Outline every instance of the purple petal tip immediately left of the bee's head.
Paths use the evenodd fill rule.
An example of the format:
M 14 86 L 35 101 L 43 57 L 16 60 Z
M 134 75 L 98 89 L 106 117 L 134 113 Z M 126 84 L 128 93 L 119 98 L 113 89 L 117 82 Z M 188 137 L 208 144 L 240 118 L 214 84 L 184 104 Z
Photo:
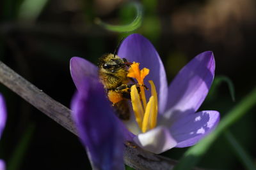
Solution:
M 88 60 L 80 57 L 72 57 L 70 59 L 70 73 L 76 85 L 77 90 L 83 87 L 83 80 L 86 77 L 98 78 L 97 67 Z

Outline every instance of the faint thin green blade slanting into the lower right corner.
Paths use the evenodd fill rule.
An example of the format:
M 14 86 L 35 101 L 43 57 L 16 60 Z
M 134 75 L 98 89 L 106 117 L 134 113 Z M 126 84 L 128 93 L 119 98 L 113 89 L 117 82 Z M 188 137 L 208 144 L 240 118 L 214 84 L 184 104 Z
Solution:
M 253 164 L 252 158 L 250 157 L 250 155 L 248 155 L 248 153 L 245 152 L 243 147 L 238 143 L 238 141 L 236 140 L 236 138 L 234 138 L 231 132 L 226 131 L 224 133 L 224 136 L 227 139 L 230 146 L 232 147 L 232 150 L 234 151 L 234 153 L 236 153 L 237 157 L 244 164 L 244 167 L 246 167 L 246 169 L 248 170 L 255 170 L 256 167 Z

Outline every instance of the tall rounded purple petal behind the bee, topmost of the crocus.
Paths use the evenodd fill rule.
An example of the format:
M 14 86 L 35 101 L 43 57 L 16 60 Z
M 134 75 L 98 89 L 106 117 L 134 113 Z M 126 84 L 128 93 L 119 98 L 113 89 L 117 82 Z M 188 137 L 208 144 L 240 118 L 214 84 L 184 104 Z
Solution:
M 150 73 L 145 78 L 145 84 L 150 87 L 148 80 L 153 80 L 159 99 L 159 113 L 164 111 L 168 94 L 166 73 L 156 49 L 147 38 L 140 34 L 131 34 L 124 39 L 118 50 L 118 56 L 129 62 L 140 62 L 140 68 L 147 67 Z

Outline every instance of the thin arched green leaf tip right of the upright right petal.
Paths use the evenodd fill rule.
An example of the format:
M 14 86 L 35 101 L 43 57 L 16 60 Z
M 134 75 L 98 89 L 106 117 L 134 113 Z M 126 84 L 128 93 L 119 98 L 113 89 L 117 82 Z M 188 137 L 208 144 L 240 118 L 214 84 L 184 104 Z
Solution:
M 223 82 L 227 83 L 227 85 L 228 85 L 228 89 L 229 89 L 232 101 L 236 101 L 234 84 L 233 84 L 232 80 L 230 80 L 230 78 L 228 78 L 227 76 L 216 76 L 214 78 L 214 81 L 212 83 L 212 87 L 208 94 L 208 97 L 211 98 L 212 96 L 214 96 L 214 94 L 217 93 L 218 87 L 220 87 L 221 83 L 223 83 Z

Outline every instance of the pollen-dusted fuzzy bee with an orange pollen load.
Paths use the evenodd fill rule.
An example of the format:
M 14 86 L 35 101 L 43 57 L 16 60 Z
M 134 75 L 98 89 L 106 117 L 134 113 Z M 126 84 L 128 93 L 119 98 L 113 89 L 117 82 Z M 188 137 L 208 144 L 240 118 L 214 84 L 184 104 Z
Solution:
M 100 57 L 98 65 L 100 81 L 106 89 L 109 101 L 113 103 L 116 116 L 122 120 L 130 118 L 128 99 L 131 99 L 133 84 L 128 84 L 132 78 L 127 77 L 127 69 L 131 64 L 125 58 L 107 53 Z

